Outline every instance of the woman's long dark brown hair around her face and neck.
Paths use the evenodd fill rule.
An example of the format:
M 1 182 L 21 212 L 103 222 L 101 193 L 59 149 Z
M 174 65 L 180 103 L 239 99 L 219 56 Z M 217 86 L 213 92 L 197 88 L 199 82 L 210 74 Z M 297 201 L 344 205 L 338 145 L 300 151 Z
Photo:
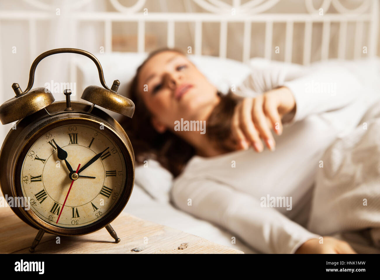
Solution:
M 174 176 L 178 176 L 196 151 L 188 142 L 171 131 L 166 130 L 164 133 L 158 133 L 154 129 L 151 123 L 151 114 L 141 98 L 141 93 L 138 92 L 138 78 L 141 68 L 152 56 L 163 51 L 185 55 L 182 51 L 172 48 L 158 49 L 149 54 L 137 68 L 127 93 L 127 97 L 135 103 L 135 114 L 131 119 L 123 117 L 120 124 L 131 140 L 136 163 L 141 164 L 145 160 L 154 159 Z M 230 138 L 231 117 L 237 99 L 234 98 L 231 91 L 226 95 L 218 92 L 218 95 L 220 95 L 221 101 L 206 121 L 206 136 L 220 149 L 229 151 L 230 148 L 225 142 Z

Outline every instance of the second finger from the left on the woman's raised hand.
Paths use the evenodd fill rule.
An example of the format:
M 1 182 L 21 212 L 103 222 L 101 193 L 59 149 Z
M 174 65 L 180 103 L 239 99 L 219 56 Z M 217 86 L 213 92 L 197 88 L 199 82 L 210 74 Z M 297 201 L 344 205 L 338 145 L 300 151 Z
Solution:
M 244 133 L 245 138 L 252 144 L 257 152 L 264 149 L 263 143 L 260 140 L 258 131 L 252 121 L 252 105 L 254 99 L 246 98 L 242 101 L 240 112 L 240 128 Z

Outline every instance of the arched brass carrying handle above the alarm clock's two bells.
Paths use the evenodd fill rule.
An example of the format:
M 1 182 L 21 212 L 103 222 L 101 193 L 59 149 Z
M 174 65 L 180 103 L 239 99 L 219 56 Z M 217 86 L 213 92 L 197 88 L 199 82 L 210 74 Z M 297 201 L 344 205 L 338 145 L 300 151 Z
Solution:
M 38 63 L 40 63 L 40 61 L 42 59 L 46 58 L 47 56 L 50 56 L 52 54 L 57 54 L 57 53 L 77 53 L 77 54 L 82 54 L 82 55 L 90 58 L 95 63 L 96 67 L 98 68 L 99 79 L 100 79 L 101 85 L 106 90 L 111 90 L 110 88 L 108 88 L 108 86 L 106 85 L 106 81 L 104 80 L 103 69 L 101 68 L 100 62 L 92 53 L 89 53 L 88 51 L 84 51 L 84 50 L 80 50 L 80 49 L 74 49 L 74 48 L 59 48 L 59 49 L 45 51 L 44 53 L 41 53 L 39 56 L 37 56 L 37 58 L 33 61 L 32 66 L 30 67 L 28 86 L 27 86 L 26 90 L 23 92 L 23 94 L 30 91 L 30 89 L 33 86 L 34 74 L 35 74 L 36 67 L 37 67 Z

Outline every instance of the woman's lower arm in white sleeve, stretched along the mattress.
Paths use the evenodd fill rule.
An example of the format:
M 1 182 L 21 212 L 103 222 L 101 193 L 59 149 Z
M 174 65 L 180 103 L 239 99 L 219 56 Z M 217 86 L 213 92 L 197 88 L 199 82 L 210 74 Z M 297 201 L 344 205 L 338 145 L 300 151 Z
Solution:
M 279 211 L 261 207 L 250 195 L 215 181 L 179 181 L 171 195 L 181 210 L 234 232 L 262 253 L 295 253 L 307 240 L 320 237 Z

